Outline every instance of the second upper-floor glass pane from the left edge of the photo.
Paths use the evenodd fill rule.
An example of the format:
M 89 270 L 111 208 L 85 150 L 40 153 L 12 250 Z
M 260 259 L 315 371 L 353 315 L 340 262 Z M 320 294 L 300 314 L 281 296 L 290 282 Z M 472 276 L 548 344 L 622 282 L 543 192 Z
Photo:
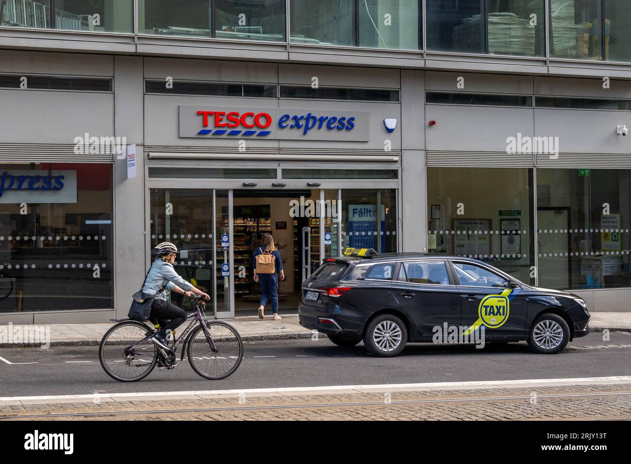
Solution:
M 134 3 L 129 0 L 54 0 L 57 29 L 134 32 Z

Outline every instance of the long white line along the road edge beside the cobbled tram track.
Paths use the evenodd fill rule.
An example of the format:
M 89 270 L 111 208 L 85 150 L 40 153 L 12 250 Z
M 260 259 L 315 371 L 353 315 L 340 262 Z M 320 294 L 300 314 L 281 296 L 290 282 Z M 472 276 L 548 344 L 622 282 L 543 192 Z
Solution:
M 323 392 L 334 390 L 385 390 L 392 391 L 398 389 L 423 389 L 431 390 L 449 390 L 454 387 L 466 387 L 477 389 L 486 388 L 534 388 L 538 385 L 550 386 L 550 384 L 558 384 L 559 386 L 571 386 L 574 384 L 620 384 L 628 383 L 631 387 L 631 376 L 611 376 L 611 377 L 582 377 L 569 379 L 524 379 L 524 380 L 487 380 L 478 382 L 429 382 L 429 383 L 399 383 L 399 384 L 375 384 L 375 385 L 331 385 L 331 386 L 311 386 L 311 387 L 278 387 L 278 388 L 251 388 L 242 390 L 192 390 L 192 391 L 149 391 L 142 393 L 100 393 L 101 398 L 134 398 L 138 396 L 195 396 L 195 395 L 239 395 L 244 393 L 288 393 L 288 392 Z M 93 393 L 89 395 L 47 395 L 47 396 L 4 396 L 0 398 L 1 402 L 15 402 L 26 400 L 54 400 L 59 402 L 62 400 L 88 400 L 91 402 L 94 398 Z

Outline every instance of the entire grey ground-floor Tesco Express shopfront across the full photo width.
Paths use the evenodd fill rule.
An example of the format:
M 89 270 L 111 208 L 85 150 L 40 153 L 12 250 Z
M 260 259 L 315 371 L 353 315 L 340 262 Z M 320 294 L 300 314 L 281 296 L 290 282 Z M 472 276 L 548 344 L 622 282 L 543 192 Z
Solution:
M 212 314 L 246 314 L 263 232 L 281 248 L 283 308 L 347 246 L 471 256 L 595 311 L 631 297 L 631 139 L 616 134 L 631 127 L 629 81 L 0 58 L 18 86 L 50 77 L 0 88 L 0 322 L 124 317 L 165 240 Z M 135 146 L 135 175 L 91 136 Z

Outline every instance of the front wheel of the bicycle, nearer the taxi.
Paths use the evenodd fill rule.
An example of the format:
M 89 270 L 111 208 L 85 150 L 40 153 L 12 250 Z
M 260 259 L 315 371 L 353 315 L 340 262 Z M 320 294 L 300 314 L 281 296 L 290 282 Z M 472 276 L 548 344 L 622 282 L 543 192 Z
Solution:
M 207 321 L 206 325 L 217 351 L 211 349 L 204 335 L 204 328 L 200 325 L 189 339 L 189 362 L 193 370 L 205 379 L 227 378 L 239 368 L 243 359 L 241 336 L 233 326 L 225 322 Z

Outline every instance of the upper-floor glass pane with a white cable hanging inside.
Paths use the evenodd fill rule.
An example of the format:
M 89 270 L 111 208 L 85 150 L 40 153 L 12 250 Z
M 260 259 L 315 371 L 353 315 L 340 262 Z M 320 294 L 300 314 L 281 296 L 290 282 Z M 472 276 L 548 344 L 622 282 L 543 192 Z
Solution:
M 419 0 L 360 0 L 359 45 L 382 49 L 422 49 Z

